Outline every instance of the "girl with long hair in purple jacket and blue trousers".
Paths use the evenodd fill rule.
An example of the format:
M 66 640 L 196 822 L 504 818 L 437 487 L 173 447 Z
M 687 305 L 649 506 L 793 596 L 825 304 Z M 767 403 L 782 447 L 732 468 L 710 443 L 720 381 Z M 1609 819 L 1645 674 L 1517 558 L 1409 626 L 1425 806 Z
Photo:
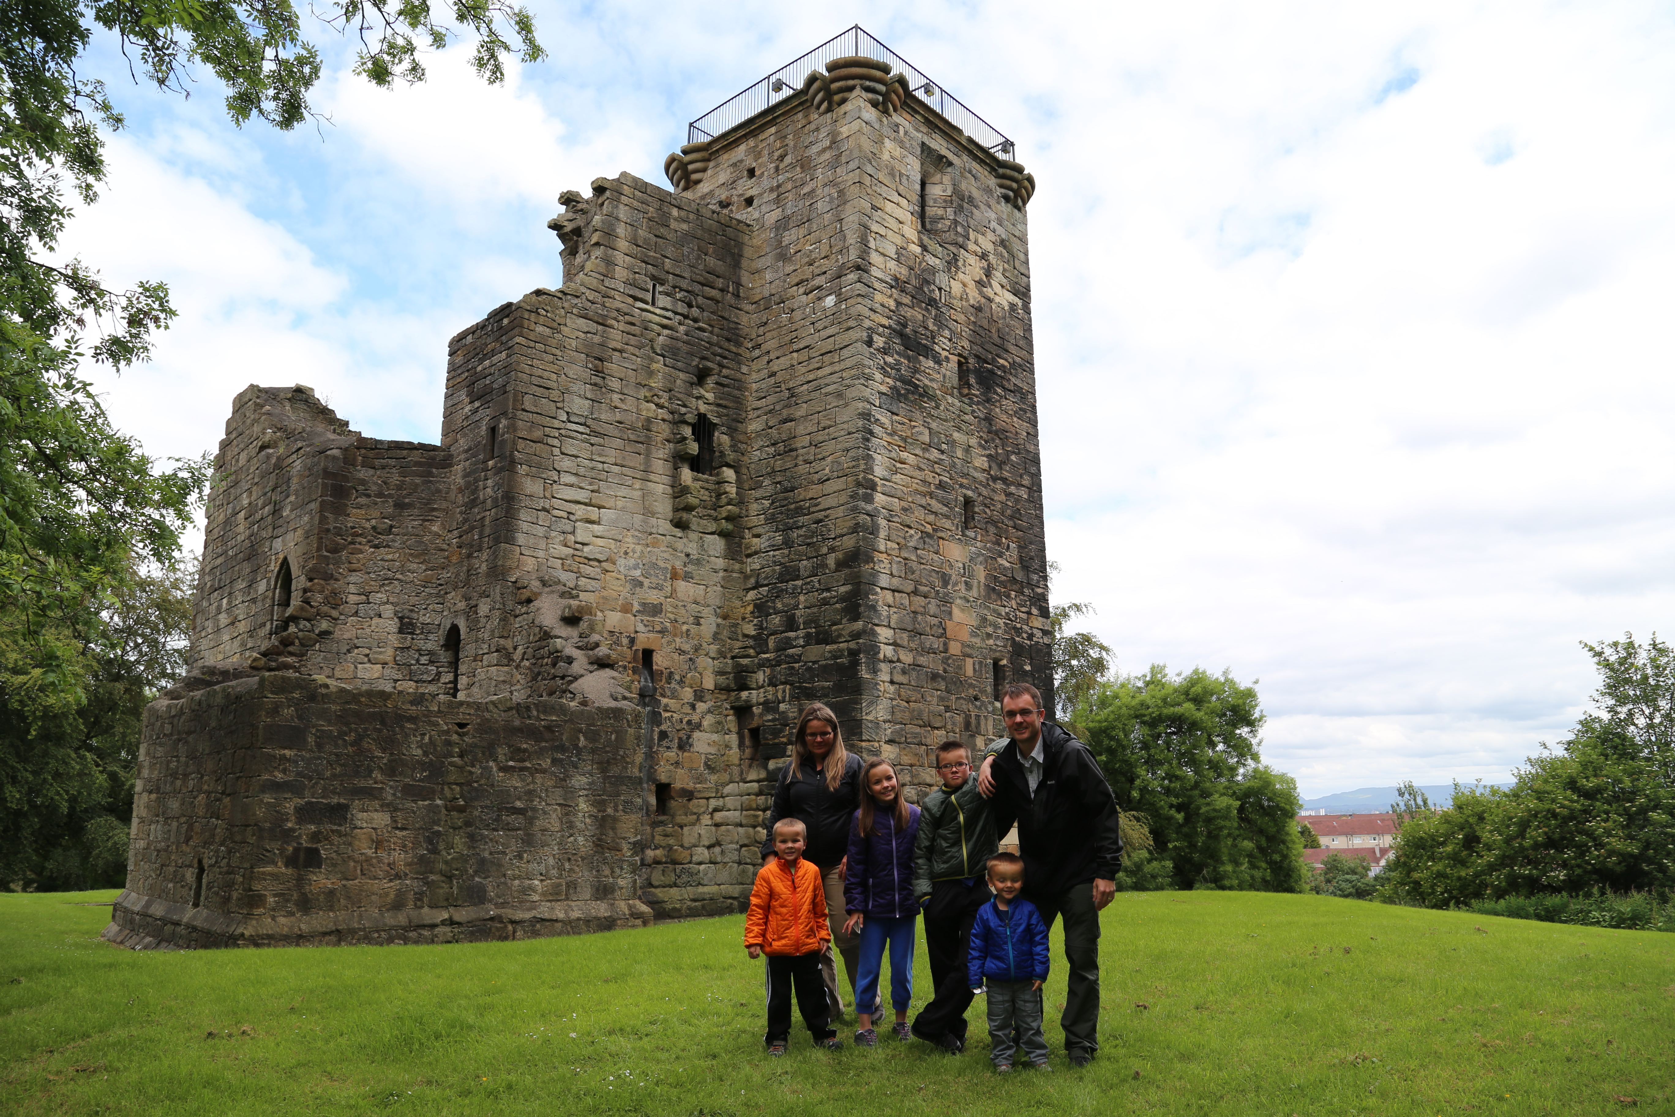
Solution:
M 861 769 L 861 809 L 849 826 L 849 872 L 844 879 L 844 934 L 861 929 L 861 965 L 856 973 L 854 1003 L 878 1003 L 878 976 L 889 946 L 889 1000 L 896 1006 L 896 1038 L 908 1032 L 908 1001 L 913 1000 L 913 923 L 920 906 L 913 901 L 913 839 L 920 832 L 920 809 L 901 797 L 896 767 L 889 760 L 868 760 Z M 858 1047 L 876 1047 L 873 1013 L 856 1011 Z

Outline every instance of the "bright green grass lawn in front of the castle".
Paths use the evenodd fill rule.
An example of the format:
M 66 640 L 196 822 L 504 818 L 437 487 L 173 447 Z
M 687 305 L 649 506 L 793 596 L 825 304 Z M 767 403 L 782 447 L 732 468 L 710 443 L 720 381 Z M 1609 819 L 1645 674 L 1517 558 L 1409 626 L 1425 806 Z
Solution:
M 1124 893 L 1102 1050 L 769 1060 L 742 918 L 476 946 L 132 953 L 111 893 L 0 894 L 5 1114 L 1675 1112 L 1675 934 Z M 1054 950 L 1060 946 L 1057 936 Z M 1060 956 L 1055 955 L 1055 968 Z M 15 978 L 22 978 L 17 981 Z M 925 990 L 923 951 L 918 988 Z M 1141 1006 L 1144 1005 L 1144 1008 Z M 211 1038 L 213 1033 L 213 1038 Z M 977 1038 L 985 1037 L 985 1038 Z

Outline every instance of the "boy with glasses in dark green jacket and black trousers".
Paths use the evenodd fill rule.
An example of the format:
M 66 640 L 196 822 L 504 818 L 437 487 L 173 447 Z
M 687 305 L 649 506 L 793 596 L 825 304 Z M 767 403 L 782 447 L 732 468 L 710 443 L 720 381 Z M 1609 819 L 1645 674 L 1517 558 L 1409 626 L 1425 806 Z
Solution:
M 913 896 L 925 909 L 933 988 L 931 1001 L 913 1020 L 913 1035 L 958 1055 L 965 1048 L 965 1010 L 972 1006 L 972 921 L 988 903 L 983 878 L 1000 844 L 993 811 L 972 779 L 972 750 L 958 740 L 940 744 L 936 775 L 941 787 L 920 804 L 913 846 Z

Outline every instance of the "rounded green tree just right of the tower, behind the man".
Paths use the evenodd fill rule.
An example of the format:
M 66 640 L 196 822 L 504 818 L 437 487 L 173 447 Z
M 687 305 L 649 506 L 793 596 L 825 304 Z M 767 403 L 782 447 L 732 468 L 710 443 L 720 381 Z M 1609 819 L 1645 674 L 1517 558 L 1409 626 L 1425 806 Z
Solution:
M 1152 665 L 1099 685 L 1087 744 L 1117 806 L 1146 817 L 1154 851 L 1124 867 L 1126 886 L 1295 893 L 1305 888 L 1296 782 L 1261 764 L 1255 687 L 1229 672 L 1169 675 Z

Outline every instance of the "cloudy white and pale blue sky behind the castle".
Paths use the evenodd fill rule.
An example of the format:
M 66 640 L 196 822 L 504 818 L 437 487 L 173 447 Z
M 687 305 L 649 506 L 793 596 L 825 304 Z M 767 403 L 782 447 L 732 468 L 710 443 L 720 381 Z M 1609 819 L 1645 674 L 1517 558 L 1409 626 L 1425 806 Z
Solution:
M 1675 13 L 1660 3 L 534 5 L 328 122 L 134 87 L 70 241 L 179 322 L 104 378 L 159 456 L 246 383 L 434 440 L 447 337 L 559 281 L 544 221 L 859 20 L 1018 141 L 1052 558 L 1124 672 L 1261 680 L 1305 795 L 1502 780 L 1675 603 Z

